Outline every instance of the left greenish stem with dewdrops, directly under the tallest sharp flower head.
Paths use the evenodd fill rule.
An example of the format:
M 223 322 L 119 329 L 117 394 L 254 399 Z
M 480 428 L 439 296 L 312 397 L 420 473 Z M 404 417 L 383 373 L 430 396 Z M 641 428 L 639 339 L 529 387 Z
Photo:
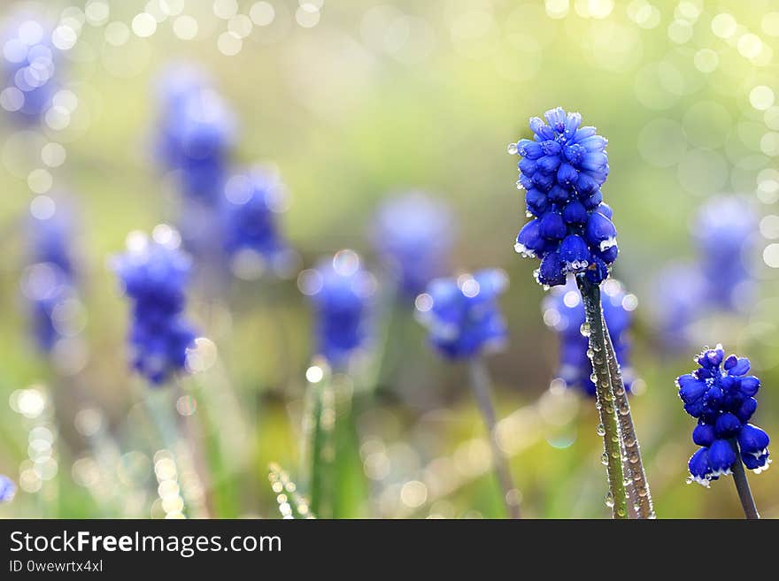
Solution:
M 589 325 L 592 371 L 595 373 L 596 407 L 603 425 L 603 448 L 606 458 L 609 493 L 611 494 L 614 518 L 627 518 L 624 472 L 622 470 L 622 441 L 620 426 L 614 409 L 614 394 L 611 374 L 606 361 L 605 329 L 603 309 L 600 303 L 600 287 L 584 276 L 576 277 L 576 284 L 582 293 L 586 325 Z

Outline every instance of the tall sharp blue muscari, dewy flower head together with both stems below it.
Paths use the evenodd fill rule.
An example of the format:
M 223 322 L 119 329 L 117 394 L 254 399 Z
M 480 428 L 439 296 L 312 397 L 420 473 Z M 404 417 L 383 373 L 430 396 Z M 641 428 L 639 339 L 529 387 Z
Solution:
M 627 518 L 629 496 L 636 516 L 648 518 L 654 515 L 652 497 L 600 299 L 600 283 L 609 277 L 619 253 L 613 212 L 601 192 L 609 173 L 608 141 L 595 127 L 582 126 L 579 113 L 558 107 L 546 111 L 544 119 L 530 118 L 532 138 L 508 146 L 510 154 L 521 157 L 517 187 L 527 190 L 525 205 L 531 218 L 514 248 L 540 260 L 535 276 L 544 288 L 565 285 L 567 275 L 575 275 L 586 317 L 582 333 L 589 338 L 596 379 L 598 432 L 604 436 L 606 504 L 615 518 Z

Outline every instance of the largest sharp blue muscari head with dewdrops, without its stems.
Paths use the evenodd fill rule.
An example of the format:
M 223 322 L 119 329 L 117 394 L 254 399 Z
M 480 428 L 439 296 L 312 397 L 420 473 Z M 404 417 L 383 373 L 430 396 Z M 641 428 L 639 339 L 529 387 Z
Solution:
M 514 246 L 522 256 L 541 261 L 536 280 L 544 287 L 566 284 L 568 273 L 586 272 L 599 283 L 617 257 L 612 210 L 600 187 L 609 172 L 607 141 L 579 113 L 560 107 L 530 119 L 532 140 L 511 143 L 522 159 L 517 187 L 527 190 L 528 217 Z

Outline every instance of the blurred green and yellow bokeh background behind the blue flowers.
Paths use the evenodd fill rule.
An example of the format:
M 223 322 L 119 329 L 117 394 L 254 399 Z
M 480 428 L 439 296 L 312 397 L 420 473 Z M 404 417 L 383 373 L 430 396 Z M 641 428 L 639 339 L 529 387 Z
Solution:
M 280 227 L 298 255 L 281 279 L 230 281 L 229 301 L 209 301 L 197 285 L 189 293 L 208 339 L 182 394 L 162 397 L 210 426 L 201 436 L 215 516 L 286 509 L 268 465 L 299 474 L 316 348 L 297 271 L 353 248 L 386 280 L 370 242 L 374 212 L 408 190 L 457 217 L 452 273 L 509 275 L 510 339 L 488 364 L 525 516 L 608 515 L 594 402 L 559 381 L 550 389 L 558 338 L 544 325 L 536 263 L 513 251 L 526 218 L 506 144 L 557 105 L 609 139 L 613 276 L 637 297 L 633 413 L 658 516 L 740 516 L 729 478 L 709 490 L 685 484 L 694 420 L 674 379 L 722 342 L 752 359 L 763 385 L 753 422 L 779 433 L 776 4 L 51 0 L 0 11 L 5 25 L 32 18 L 54 31 L 61 91 L 27 124 L 12 115 L 12 95 L 0 96 L 0 473 L 19 484 L 0 516 L 177 512 L 139 403 L 148 387 L 127 369 L 127 302 L 108 261 L 128 232 L 176 219 L 177 194 L 154 159 L 154 87 L 182 63 L 210 75 L 235 113 L 231 163 L 276 166 L 288 192 Z M 46 355 L 19 280 L 31 208 L 65 192 L 79 298 L 68 340 Z M 717 205 L 721 195 L 740 197 Z M 728 218 L 744 216 L 753 219 L 736 230 L 736 249 L 720 244 Z M 721 220 L 724 233 L 699 240 Z M 720 287 L 734 263 L 727 300 L 704 305 L 698 269 Z M 411 305 L 396 308 L 388 333 L 376 395 L 357 417 L 360 460 L 343 467 L 340 515 L 502 517 L 464 369 L 430 351 Z M 749 474 L 763 516 L 779 516 L 775 470 Z

